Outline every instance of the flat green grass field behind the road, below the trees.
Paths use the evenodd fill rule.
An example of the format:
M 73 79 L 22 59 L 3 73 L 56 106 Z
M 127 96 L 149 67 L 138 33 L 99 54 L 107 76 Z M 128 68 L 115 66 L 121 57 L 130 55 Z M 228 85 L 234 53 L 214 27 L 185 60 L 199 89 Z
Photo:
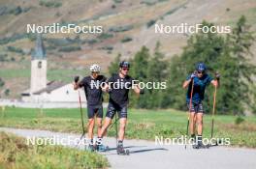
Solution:
M 104 110 L 106 112 L 106 109 Z M 84 126 L 86 124 L 86 110 Z M 186 133 L 186 112 L 177 110 L 128 110 L 126 138 L 154 140 L 155 136 L 176 138 Z M 236 116 L 215 116 L 214 137 L 230 138 L 232 146 L 256 148 L 256 117 L 242 117 L 240 124 Z M 204 137 L 210 137 L 211 115 L 204 117 Z M 6 108 L 1 113 L 0 127 L 46 129 L 60 132 L 81 133 L 80 109 L 32 109 Z M 95 132 L 96 133 L 96 132 Z M 114 127 L 108 136 L 115 136 Z

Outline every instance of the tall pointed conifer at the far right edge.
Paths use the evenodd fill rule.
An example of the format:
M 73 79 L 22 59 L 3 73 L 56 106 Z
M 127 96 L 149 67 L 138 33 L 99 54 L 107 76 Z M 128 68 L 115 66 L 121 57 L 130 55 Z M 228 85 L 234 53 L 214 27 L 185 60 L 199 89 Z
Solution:
M 250 26 L 246 24 L 246 18 L 244 15 L 240 16 L 240 19 L 233 29 L 231 36 L 228 37 L 227 43 L 231 49 L 231 57 L 236 60 L 233 71 L 236 71 L 236 88 L 238 94 L 237 103 L 240 105 L 240 114 L 244 109 L 256 110 L 256 86 L 253 83 L 253 76 L 256 74 L 256 67 L 251 63 L 252 53 L 250 47 L 252 46 L 255 38 L 250 32 Z M 234 79 L 235 80 L 235 79 Z

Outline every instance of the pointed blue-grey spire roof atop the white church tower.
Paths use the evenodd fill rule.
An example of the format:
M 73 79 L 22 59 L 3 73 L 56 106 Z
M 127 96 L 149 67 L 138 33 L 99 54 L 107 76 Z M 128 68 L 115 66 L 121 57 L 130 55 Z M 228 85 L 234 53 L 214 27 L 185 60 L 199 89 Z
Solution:
M 32 60 L 34 59 L 47 59 L 46 49 L 41 34 L 37 35 L 35 50 L 32 53 Z

